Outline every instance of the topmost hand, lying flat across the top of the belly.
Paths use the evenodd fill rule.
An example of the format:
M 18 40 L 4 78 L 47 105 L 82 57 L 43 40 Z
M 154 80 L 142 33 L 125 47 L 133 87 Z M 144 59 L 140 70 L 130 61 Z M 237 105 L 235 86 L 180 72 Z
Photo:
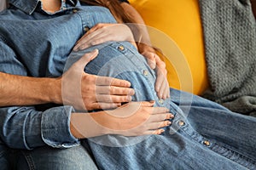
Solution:
M 110 41 L 128 41 L 137 47 L 130 28 L 125 24 L 97 24 L 79 39 L 73 50 L 78 51 Z

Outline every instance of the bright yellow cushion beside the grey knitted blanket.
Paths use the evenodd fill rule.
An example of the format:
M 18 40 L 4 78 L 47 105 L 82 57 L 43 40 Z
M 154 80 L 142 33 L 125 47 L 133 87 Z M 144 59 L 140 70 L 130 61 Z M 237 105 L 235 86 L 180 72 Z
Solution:
M 153 45 L 166 55 L 168 82 L 193 94 L 208 86 L 197 0 L 130 0 L 143 16 Z

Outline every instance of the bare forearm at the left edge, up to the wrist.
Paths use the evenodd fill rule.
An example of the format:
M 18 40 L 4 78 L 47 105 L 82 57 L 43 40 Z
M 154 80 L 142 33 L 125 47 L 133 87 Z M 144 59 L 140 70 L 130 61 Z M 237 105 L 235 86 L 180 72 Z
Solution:
M 0 106 L 60 104 L 61 80 L 10 75 L 0 72 Z

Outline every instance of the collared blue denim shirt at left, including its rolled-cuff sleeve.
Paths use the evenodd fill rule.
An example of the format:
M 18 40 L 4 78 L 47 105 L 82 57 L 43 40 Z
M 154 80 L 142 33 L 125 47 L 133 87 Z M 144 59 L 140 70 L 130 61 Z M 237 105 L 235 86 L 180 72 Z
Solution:
M 115 22 L 107 8 L 66 2 L 65 8 L 50 14 L 38 0 L 9 1 L 10 7 L 0 13 L 0 71 L 59 77 L 73 44 L 85 31 L 97 23 Z M 68 105 L 44 110 L 36 106 L 0 108 L 0 143 L 29 150 L 44 144 L 56 148 L 77 145 L 79 140 L 69 127 L 73 111 Z

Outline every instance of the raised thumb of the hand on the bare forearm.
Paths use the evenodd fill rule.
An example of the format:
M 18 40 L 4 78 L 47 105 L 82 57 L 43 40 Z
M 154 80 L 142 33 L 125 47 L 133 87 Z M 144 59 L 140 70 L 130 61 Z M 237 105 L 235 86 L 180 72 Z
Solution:
M 95 59 L 96 56 L 99 54 L 98 49 L 92 50 L 90 53 L 84 54 L 81 59 L 79 59 L 74 65 L 76 67 L 79 67 L 81 69 L 84 69 L 84 67 L 92 60 Z

